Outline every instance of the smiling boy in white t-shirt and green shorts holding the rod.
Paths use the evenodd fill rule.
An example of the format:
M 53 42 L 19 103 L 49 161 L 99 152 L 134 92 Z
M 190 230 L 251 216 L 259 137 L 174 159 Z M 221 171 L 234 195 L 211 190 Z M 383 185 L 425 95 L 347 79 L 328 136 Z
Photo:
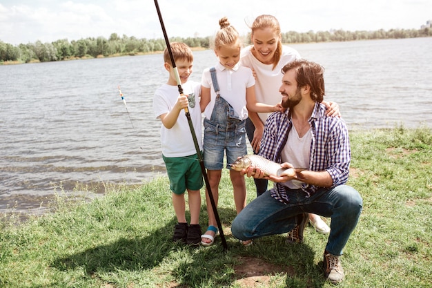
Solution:
M 202 150 L 202 117 L 199 107 L 201 84 L 188 81 L 192 73 L 192 50 L 183 43 L 170 44 L 173 58 L 177 66 L 181 87 L 184 95 L 179 94 L 175 70 L 171 63 L 168 49 L 164 51 L 164 67 L 169 73 L 168 81 L 155 91 L 153 111 L 156 118 L 161 119 L 162 157 L 173 192 L 173 207 L 177 216 L 173 241 L 198 245 L 201 242 L 201 227 L 199 227 L 199 211 L 201 209 L 201 194 L 203 186 L 202 171 L 197 160 L 197 151 L 193 142 L 185 108 L 188 108 L 191 120 Z M 198 105 L 195 105 L 195 103 Z M 184 191 L 188 191 L 190 225 L 186 222 Z

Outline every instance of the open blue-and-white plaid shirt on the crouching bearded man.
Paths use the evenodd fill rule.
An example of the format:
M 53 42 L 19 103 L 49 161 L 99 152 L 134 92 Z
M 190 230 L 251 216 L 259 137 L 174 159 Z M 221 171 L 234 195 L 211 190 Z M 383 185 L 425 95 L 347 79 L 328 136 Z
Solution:
M 309 124 L 312 129 L 311 158 L 308 169 L 311 171 L 327 171 L 333 179 L 331 188 L 345 184 L 348 180 L 351 148 L 349 145 L 348 129 L 339 117 L 327 117 L 324 104 L 316 103 Z M 280 163 L 281 152 L 288 139 L 293 122 L 288 112 L 271 114 L 264 128 L 259 155 L 268 160 Z M 275 183 L 271 190 L 273 198 L 288 202 L 286 195 L 288 187 Z M 304 183 L 302 190 L 311 195 L 319 186 Z

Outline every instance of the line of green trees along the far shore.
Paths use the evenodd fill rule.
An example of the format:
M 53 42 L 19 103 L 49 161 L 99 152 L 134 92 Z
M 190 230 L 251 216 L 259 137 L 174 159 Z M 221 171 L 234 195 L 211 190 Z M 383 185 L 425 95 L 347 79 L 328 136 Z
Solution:
M 355 41 L 369 39 L 401 39 L 415 37 L 431 37 L 432 28 L 420 30 L 377 30 L 377 31 L 345 31 L 331 30 L 318 32 L 284 32 L 282 43 L 313 43 L 328 41 Z M 249 41 L 250 37 L 246 37 Z M 170 41 L 180 41 L 190 47 L 209 48 L 211 37 L 173 37 Z M 248 43 L 246 43 L 248 44 Z M 88 37 L 86 39 L 72 40 L 60 39 L 51 43 L 12 44 L 0 40 L 0 64 L 4 61 L 18 61 L 29 63 L 31 61 L 62 61 L 65 59 L 76 59 L 83 57 L 110 57 L 115 55 L 139 55 L 151 52 L 163 51 L 166 47 L 164 39 L 137 39 L 117 33 L 112 33 L 108 39 L 105 37 Z

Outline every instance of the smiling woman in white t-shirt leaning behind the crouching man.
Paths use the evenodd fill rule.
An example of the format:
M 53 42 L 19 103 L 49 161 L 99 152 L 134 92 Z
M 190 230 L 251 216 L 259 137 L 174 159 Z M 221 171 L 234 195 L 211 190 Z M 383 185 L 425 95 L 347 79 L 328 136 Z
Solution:
M 279 21 L 272 15 L 260 15 L 251 26 L 251 46 L 242 49 L 240 63 L 253 70 L 257 102 L 275 105 L 281 101 L 279 86 L 282 81 L 281 69 L 288 62 L 300 59 L 297 50 L 282 45 Z M 340 116 L 336 103 L 323 102 L 327 115 Z M 254 153 L 259 152 L 264 123 L 269 113 L 250 112 L 246 120 L 246 133 Z M 267 190 L 268 180 L 254 179 L 257 196 Z M 319 215 L 309 214 L 309 221 L 318 233 L 330 233 L 330 228 Z

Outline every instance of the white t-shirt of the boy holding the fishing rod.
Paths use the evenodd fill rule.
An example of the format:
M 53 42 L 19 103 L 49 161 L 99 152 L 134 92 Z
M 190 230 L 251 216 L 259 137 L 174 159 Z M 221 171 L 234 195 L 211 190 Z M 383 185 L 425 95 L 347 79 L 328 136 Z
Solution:
M 199 107 L 201 84 L 197 81 L 187 81 L 181 84 L 181 88 L 184 95 L 188 95 L 190 119 L 199 148 L 202 150 L 202 115 Z M 177 86 L 164 84 L 157 88 L 153 97 L 155 117 L 160 119 L 161 115 L 172 111 L 178 97 Z M 177 122 L 172 128 L 167 129 L 164 124 L 161 124 L 161 146 L 165 157 L 184 157 L 197 153 L 184 109 L 180 111 Z

